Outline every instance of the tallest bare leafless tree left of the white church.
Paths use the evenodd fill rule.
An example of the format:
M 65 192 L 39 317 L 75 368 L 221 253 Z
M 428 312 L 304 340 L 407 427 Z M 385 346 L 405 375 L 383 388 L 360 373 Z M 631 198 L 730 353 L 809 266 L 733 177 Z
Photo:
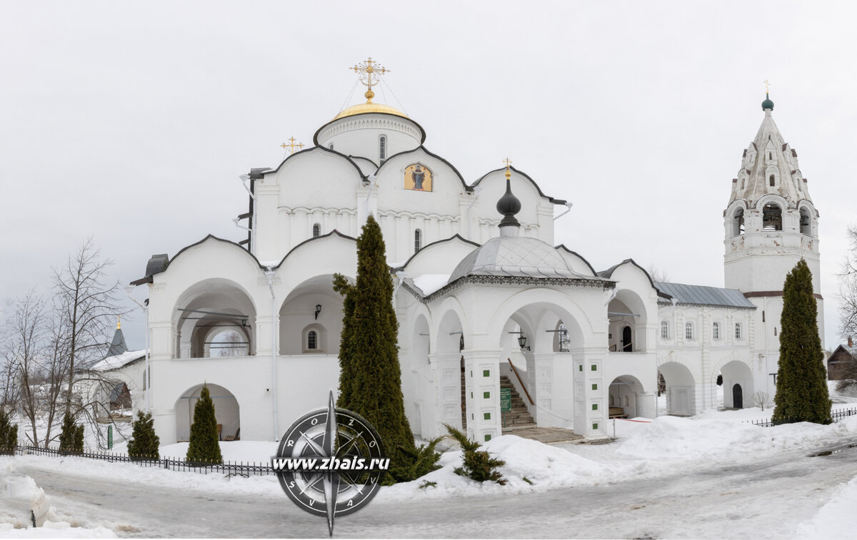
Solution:
M 113 264 L 102 259 L 92 237 L 81 244 L 61 269 L 54 269 L 54 302 L 62 328 L 68 336 L 63 352 L 69 363 L 65 414 L 71 413 L 75 370 L 101 359 L 107 345 L 105 335 L 117 315 L 127 312 L 117 300 L 118 282 L 108 282 L 106 271 Z

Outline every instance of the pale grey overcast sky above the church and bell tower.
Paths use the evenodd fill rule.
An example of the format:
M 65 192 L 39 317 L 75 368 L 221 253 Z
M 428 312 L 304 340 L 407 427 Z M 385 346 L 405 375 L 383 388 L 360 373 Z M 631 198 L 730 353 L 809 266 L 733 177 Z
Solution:
M 818 2 L 0 0 L 0 300 L 44 290 L 89 235 L 123 284 L 153 253 L 245 238 L 238 175 L 276 166 L 291 135 L 311 144 L 372 56 L 395 92 L 375 101 L 466 181 L 509 157 L 572 201 L 556 243 L 596 270 L 634 258 L 719 287 L 770 80 L 821 214 L 831 347 L 857 223 L 854 22 L 853 3 Z M 143 326 L 123 325 L 130 347 Z

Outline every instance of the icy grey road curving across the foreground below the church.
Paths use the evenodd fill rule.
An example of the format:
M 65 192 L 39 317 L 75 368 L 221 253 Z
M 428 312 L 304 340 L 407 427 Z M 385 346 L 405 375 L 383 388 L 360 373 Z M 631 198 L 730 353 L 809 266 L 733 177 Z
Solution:
M 127 537 L 324 537 L 327 524 L 285 495 L 201 491 L 63 478 L 24 464 L 61 514 Z M 752 465 L 529 495 L 374 501 L 336 522 L 337 537 L 794 537 L 797 524 L 857 475 L 857 449 L 780 454 Z

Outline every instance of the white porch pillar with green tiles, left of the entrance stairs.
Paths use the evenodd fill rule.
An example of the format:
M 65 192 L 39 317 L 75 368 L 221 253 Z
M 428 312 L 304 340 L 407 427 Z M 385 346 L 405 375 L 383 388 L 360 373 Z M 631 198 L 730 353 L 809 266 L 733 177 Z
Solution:
M 467 436 L 490 441 L 502 433 L 500 417 L 500 349 L 464 350 Z

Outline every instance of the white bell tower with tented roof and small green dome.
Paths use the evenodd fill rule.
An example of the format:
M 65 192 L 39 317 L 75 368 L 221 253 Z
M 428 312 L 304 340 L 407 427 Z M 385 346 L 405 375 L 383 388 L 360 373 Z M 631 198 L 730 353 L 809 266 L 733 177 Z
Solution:
M 821 297 L 818 252 L 818 211 L 798 166 L 797 152 L 782 139 L 765 95 L 764 119 L 744 151 L 738 177 L 723 212 L 726 288 L 737 288 L 758 309 L 751 340 L 755 388 L 774 397 L 779 359 L 782 285 L 801 258 L 812 271 L 818 301 L 818 331 L 824 346 L 824 300 Z M 730 329 L 736 340 L 744 329 Z

